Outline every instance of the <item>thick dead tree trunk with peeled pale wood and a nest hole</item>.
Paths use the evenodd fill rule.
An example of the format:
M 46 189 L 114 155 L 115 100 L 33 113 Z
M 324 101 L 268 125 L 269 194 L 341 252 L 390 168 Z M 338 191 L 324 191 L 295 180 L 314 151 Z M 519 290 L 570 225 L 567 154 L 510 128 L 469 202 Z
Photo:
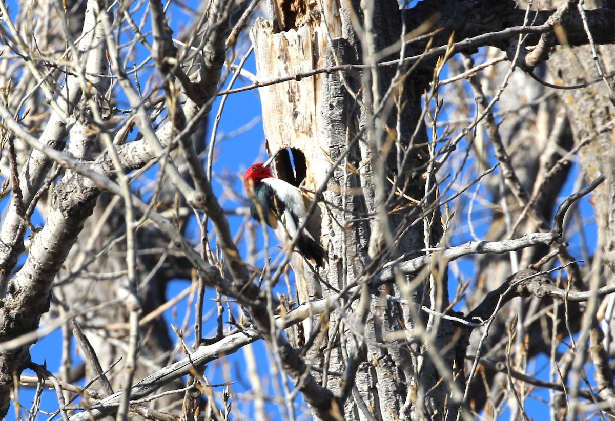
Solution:
M 341 9 L 330 2 L 295 6 L 273 2 L 273 18 L 252 30 L 259 80 L 298 75 L 261 88 L 263 124 L 269 152 L 287 148 L 277 158 L 278 176 L 303 183 L 320 201 L 320 223 L 312 228 L 328 249 L 328 265 L 315 272 L 295 254 L 298 301 L 351 293 L 341 293 L 342 308 L 287 333 L 296 345 L 314 340 L 306 359 L 322 368 L 315 376 L 344 403 L 344 419 L 442 417 L 454 407 L 446 398 L 446 383 L 454 381 L 438 383 L 436 366 L 451 376 L 455 329 L 448 321 L 434 324 L 416 304 L 448 305 L 446 264 L 375 282 L 383 262 L 435 245 L 442 235 L 437 210 L 429 210 L 436 192 L 419 124 L 431 71 L 415 70 L 413 77 L 407 67 L 335 71 L 373 63 L 400 39 L 403 11 L 395 1 L 370 10 L 358 2 Z M 355 31 L 354 19 L 365 33 Z M 319 68 L 331 71 L 302 76 Z M 448 350 L 437 354 L 438 348 Z

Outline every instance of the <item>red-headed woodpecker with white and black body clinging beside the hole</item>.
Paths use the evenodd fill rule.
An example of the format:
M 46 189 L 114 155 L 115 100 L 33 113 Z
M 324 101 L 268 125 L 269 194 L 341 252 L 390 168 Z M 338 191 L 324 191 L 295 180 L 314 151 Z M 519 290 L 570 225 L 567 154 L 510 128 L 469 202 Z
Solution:
M 299 235 L 296 248 L 316 266 L 322 267 L 327 259 L 325 250 L 306 229 L 298 232 L 306 219 L 309 199 L 297 187 L 273 175 L 270 165 L 275 157 L 274 154 L 266 162 L 250 165 L 245 171 L 244 186 L 250 196 L 250 214 L 256 221 L 261 221 L 262 215 L 282 244 Z

